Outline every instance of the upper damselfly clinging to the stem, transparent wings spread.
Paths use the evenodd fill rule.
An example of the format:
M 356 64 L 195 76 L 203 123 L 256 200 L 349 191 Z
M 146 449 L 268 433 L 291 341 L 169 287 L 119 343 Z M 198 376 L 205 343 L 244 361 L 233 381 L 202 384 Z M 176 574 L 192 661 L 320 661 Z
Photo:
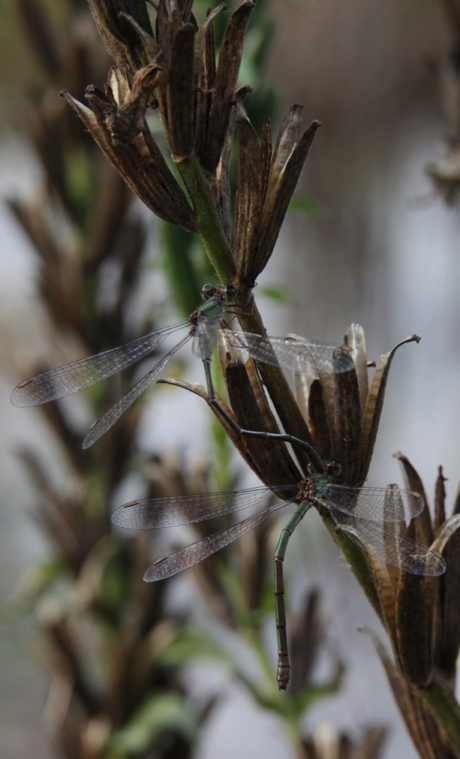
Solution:
M 334 373 L 346 371 L 350 367 L 350 356 L 335 344 L 307 340 L 299 342 L 298 338 L 269 338 L 250 332 L 233 332 L 225 326 L 221 328 L 223 313 L 231 312 L 231 309 L 235 308 L 228 305 L 236 296 L 235 289 L 229 285 L 205 285 L 202 295 L 205 303 L 186 321 L 144 335 L 119 348 L 111 348 L 24 380 L 13 390 L 11 402 L 15 406 L 35 406 L 90 387 L 146 358 L 169 335 L 186 327 L 187 334 L 114 406 L 92 424 L 83 440 L 83 448 L 89 448 L 115 424 L 141 393 L 156 380 L 170 358 L 192 338 L 194 353 L 204 364 L 207 391 L 212 400 L 215 393 L 211 360 L 219 334 L 225 337 L 229 345 L 245 350 L 256 360 L 269 364 L 279 363 L 284 368 L 306 371 L 308 366 L 313 366 L 316 372 Z M 225 413 L 223 415 L 227 418 Z

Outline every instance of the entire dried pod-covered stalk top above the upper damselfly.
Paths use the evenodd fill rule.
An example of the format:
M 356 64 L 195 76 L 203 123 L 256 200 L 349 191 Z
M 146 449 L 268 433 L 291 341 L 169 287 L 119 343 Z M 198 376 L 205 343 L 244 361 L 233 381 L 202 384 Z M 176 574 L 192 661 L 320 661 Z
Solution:
M 154 29 L 143 3 L 92 0 L 91 11 L 116 62 L 102 92 L 86 90 L 89 108 L 63 95 L 101 150 L 139 198 L 160 218 L 198 232 L 221 282 L 247 298 L 265 268 L 279 234 L 319 122 L 301 128 L 299 105 L 284 119 L 272 148 L 266 122 L 262 141 L 237 89 L 246 27 L 253 2 L 231 15 L 217 60 L 210 11 L 200 26 L 192 2 L 159 0 Z M 168 166 L 146 113 L 161 119 Z M 239 175 L 232 214 L 230 166 L 238 124 Z M 255 328 L 254 326 L 252 327 Z

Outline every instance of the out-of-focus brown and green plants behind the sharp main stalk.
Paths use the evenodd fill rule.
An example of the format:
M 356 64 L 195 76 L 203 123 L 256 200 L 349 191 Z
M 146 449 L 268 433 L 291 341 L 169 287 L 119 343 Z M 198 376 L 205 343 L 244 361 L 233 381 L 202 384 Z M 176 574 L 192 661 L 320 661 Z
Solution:
M 86 84 L 101 81 L 108 67 L 100 41 L 91 31 L 86 4 L 63 2 L 58 17 L 49 17 L 45 6 L 33 0 L 20 0 L 17 8 L 46 79 L 41 92 L 29 103 L 28 118 L 28 136 L 41 162 L 44 182 L 33 198 L 15 199 L 10 205 L 39 261 L 37 290 L 53 331 L 53 364 L 59 364 L 151 330 L 163 300 L 153 293 L 152 316 L 136 310 L 137 293 L 148 265 L 145 222 L 125 182 L 107 164 L 65 101 L 58 99 L 64 86 L 82 98 Z M 254 81 L 272 31 L 262 8 L 257 17 L 252 36 L 248 34 L 252 52 L 245 62 L 245 74 Z M 126 21 L 122 23 L 125 30 L 129 28 Z M 211 23 L 207 29 L 209 37 Z M 220 45 L 223 33 L 224 23 L 218 18 L 216 38 Z M 137 31 L 131 29 L 130 35 L 138 41 Z M 211 42 L 212 35 L 208 47 Z M 262 95 L 259 91 L 251 111 L 256 123 L 261 123 L 260 114 L 265 115 L 273 100 L 271 91 L 265 90 Z M 229 106 L 230 100 L 227 110 Z M 220 108 L 221 103 L 215 108 L 217 115 Z M 246 118 L 241 115 L 244 123 Z M 114 150 L 126 159 L 129 147 L 122 141 Z M 159 153 L 156 149 L 153 152 L 161 163 Z M 183 197 L 174 206 L 174 212 L 182 213 L 176 221 L 186 229 L 195 229 L 194 214 L 185 195 L 181 196 L 183 191 L 166 164 L 163 168 L 171 192 Z M 149 181 L 154 177 L 151 174 Z M 295 183 L 292 191 L 294 187 Z M 182 212 L 177 210 L 180 206 Z M 275 223 L 281 223 L 279 215 Z M 243 231 L 246 234 L 246 229 Z M 192 236 L 182 228 L 164 224 L 161 239 L 162 266 L 171 292 L 177 308 L 188 315 L 197 305 L 203 281 L 209 278 L 209 265 Z M 273 247 L 274 239 L 276 236 L 267 244 Z M 32 367 L 22 362 L 18 373 L 47 368 L 45 364 Z M 86 391 L 91 413 L 97 415 L 107 407 L 130 384 L 133 373 L 128 369 L 121 380 L 114 378 Z M 212 657 L 224 663 L 233 679 L 259 704 L 285 720 L 299 755 L 323 756 L 327 750 L 324 736 L 312 736 L 304 743 L 301 717 L 308 704 L 340 687 L 343 665 L 333 659 L 330 679 L 316 681 L 322 622 L 319 598 L 309 593 L 305 616 L 292 629 L 296 674 L 289 700 L 278 694 L 262 637 L 264 620 L 273 613 L 268 572 L 270 525 L 251 536 L 244 550 L 236 547 L 195 570 L 195 584 L 208 613 L 242 636 L 259 662 L 260 671 L 254 678 L 238 664 L 236 654 L 225 650 L 214 636 L 197 631 L 186 615 L 171 613 L 168 583 L 149 585 L 142 581 L 151 551 L 162 552 L 157 539 L 152 546 L 143 535 L 125 540 L 110 529 L 116 493 L 133 471 L 140 474 L 151 497 L 209 490 L 213 482 L 211 462 L 197 465 L 186 474 L 187 465 L 171 456 L 142 461 L 136 436 L 143 410 L 142 402 L 130 409 L 88 453 L 81 448 L 80 426 L 68 406 L 56 403 L 41 409 L 70 466 L 64 490 L 56 489 L 39 451 L 27 447 L 19 452 L 36 487 L 34 518 L 50 543 L 50 554 L 33 567 L 20 595 L 4 611 L 14 617 L 30 610 L 37 618 L 40 658 L 51 678 L 46 721 L 57 755 L 72 759 L 190 756 L 200 726 L 209 719 L 220 694 L 211 694 L 197 707 L 190 701 L 183 674 L 197 658 Z M 236 483 L 229 465 L 226 474 L 225 469 L 222 471 L 222 462 L 230 458 L 228 443 L 216 428 L 213 434 L 220 450 L 219 484 L 233 487 Z M 362 739 L 363 745 L 373 746 L 366 753 L 369 757 L 377 756 L 383 738 L 375 732 L 372 736 L 370 740 L 370 733 L 366 733 Z M 360 741 L 337 734 L 330 735 L 326 745 L 332 742 L 339 751 L 342 745 L 359 745 Z

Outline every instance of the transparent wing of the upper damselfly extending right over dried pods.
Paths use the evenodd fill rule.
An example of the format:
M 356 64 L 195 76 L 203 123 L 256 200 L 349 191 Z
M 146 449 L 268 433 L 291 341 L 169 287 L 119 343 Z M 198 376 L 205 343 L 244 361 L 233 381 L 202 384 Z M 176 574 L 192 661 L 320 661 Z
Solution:
M 308 368 L 317 374 L 349 371 L 353 359 L 349 350 L 334 343 L 321 343 L 292 337 L 262 337 L 251 332 L 222 330 L 222 335 L 233 348 L 249 353 L 256 361 L 279 363 L 285 369 L 305 372 Z

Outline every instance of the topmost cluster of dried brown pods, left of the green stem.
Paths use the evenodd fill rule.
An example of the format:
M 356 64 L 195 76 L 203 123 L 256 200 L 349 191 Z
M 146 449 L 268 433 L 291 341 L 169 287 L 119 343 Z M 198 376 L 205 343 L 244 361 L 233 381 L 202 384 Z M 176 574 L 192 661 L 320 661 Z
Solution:
M 114 2 L 110 13 L 107 3 L 90 3 L 117 66 L 104 93 L 94 87 L 87 90 L 93 116 L 68 93 L 64 95 L 148 207 L 161 218 L 196 231 L 195 214 L 160 158 L 145 113 L 149 107 L 158 109 L 173 161 L 181 164 L 196 158 L 217 188 L 218 165 L 233 135 L 231 113 L 253 4 L 243 3 L 232 15 L 218 64 L 213 21 L 224 6 L 211 12 L 200 27 L 191 5 L 161 0 L 156 6 L 154 33 L 143 3 L 131 6 L 133 15 L 126 13 L 123 2 Z M 227 169 L 222 171 L 226 173 Z

